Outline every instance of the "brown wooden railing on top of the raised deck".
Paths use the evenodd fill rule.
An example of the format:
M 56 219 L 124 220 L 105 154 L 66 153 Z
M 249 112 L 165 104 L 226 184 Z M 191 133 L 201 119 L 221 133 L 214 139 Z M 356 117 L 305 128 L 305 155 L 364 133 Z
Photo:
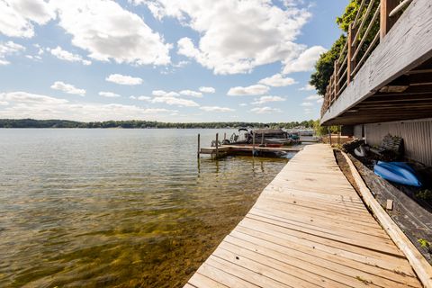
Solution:
M 380 40 L 413 0 L 362 0 L 355 20 L 349 24 L 347 41 L 335 61 L 321 117 L 347 88 Z M 379 27 L 377 29 L 377 27 Z

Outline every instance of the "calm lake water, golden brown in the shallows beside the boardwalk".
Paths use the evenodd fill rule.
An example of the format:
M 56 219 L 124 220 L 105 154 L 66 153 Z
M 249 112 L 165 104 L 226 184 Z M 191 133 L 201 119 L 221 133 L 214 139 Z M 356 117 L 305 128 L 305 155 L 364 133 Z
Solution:
M 0 130 L 0 286 L 184 284 L 287 161 L 198 162 L 216 131 Z

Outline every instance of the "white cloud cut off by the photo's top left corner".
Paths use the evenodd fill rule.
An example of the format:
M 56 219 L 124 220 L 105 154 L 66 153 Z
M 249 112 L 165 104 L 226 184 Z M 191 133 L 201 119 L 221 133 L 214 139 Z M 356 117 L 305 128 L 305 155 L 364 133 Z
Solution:
M 49 3 L 43 0 L 0 1 L 0 33 L 9 37 L 31 38 L 32 23 L 48 23 L 55 17 Z

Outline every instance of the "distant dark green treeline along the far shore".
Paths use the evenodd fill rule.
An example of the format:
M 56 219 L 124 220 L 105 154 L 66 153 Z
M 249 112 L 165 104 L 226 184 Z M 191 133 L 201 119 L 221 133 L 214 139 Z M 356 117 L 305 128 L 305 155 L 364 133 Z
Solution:
M 310 121 L 292 121 L 292 122 L 192 122 L 192 123 L 171 123 L 158 121 L 94 121 L 80 122 L 68 120 L 34 120 L 34 119 L 0 119 L 0 128 L 239 128 L 255 127 L 264 128 L 285 128 L 294 127 L 313 128 L 313 120 Z

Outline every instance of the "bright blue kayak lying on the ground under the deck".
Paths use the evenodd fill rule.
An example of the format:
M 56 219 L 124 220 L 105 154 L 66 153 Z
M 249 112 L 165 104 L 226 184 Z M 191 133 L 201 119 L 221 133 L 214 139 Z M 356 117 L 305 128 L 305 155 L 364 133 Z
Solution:
M 416 171 L 405 162 L 378 161 L 374 173 L 394 183 L 420 187 L 421 182 Z

